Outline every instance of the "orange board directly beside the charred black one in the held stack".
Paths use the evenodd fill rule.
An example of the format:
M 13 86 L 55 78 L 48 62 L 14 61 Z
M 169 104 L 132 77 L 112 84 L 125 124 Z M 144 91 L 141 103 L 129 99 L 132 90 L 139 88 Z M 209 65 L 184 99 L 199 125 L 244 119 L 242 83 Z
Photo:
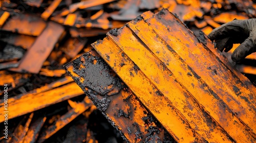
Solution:
M 164 96 L 158 95 L 159 90 L 157 87 L 144 76 L 141 70 L 136 69 L 136 65 L 118 49 L 109 37 L 92 45 L 176 141 L 203 141 L 195 130 L 189 128 L 189 123 L 178 109 Z M 105 47 L 108 47 L 108 49 L 105 49 Z

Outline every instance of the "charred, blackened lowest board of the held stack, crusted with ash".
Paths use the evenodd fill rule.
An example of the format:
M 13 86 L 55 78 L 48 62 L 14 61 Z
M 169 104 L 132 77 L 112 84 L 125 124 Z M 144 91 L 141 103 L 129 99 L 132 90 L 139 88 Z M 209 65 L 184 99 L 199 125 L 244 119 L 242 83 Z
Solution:
M 84 64 L 85 61 L 87 62 Z M 109 122 L 121 132 L 126 141 L 153 141 L 154 137 L 156 140 L 163 141 L 164 138 L 171 138 L 150 111 L 140 104 L 130 89 L 123 87 L 120 79 L 113 71 L 109 71 L 109 67 L 103 63 L 95 51 L 83 54 L 65 65 L 65 69 L 92 99 L 94 105 L 109 119 Z M 82 72 L 80 73 L 79 70 Z M 87 76 L 90 73 L 94 73 L 95 76 Z M 115 87 L 106 84 L 113 83 L 113 80 L 114 83 L 116 82 Z M 154 131 L 151 131 L 152 128 Z

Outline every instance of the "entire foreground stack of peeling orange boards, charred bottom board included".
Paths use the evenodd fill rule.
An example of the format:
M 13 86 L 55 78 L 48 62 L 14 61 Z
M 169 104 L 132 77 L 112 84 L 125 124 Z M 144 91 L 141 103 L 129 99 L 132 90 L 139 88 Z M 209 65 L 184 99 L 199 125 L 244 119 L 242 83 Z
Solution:
M 197 38 L 168 10 L 144 15 L 92 44 L 141 107 L 177 142 L 255 142 L 256 92 L 249 80 L 227 63 L 203 33 Z M 112 78 L 106 79 L 108 86 L 92 86 L 86 80 L 98 76 L 85 72 L 88 62 L 96 64 L 83 55 L 66 70 L 84 92 L 111 89 Z M 117 100 L 93 102 L 108 111 L 113 107 L 105 107 L 106 103 Z M 106 117 L 115 118 L 115 114 Z M 135 112 L 134 117 L 141 114 Z M 114 121 L 115 127 L 125 123 L 120 120 Z M 118 129 L 127 140 L 138 141 L 134 132 L 125 134 L 123 128 Z

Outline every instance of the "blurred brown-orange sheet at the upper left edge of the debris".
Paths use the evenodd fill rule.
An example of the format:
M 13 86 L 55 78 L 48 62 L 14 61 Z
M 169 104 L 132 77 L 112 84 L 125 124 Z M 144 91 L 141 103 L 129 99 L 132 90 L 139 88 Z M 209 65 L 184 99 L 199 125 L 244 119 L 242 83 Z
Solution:
M 40 17 L 31 14 L 11 13 L 12 18 L 9 18 L 1 31 L 11 31 L 14 33 L 39 36 L 46 28 L 47 24 Z

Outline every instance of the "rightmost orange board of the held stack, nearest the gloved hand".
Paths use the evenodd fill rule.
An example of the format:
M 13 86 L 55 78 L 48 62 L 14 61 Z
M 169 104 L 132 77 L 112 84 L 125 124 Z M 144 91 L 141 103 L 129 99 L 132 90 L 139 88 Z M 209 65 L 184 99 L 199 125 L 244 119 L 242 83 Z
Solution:
M 187 31 L 181 22 L 166 12 L 146 22 L 172 47 L 177 54 L 206 82 L 226 105 L 255 133 L 255 93 L 210 53 L 193 33 Z M 158 22 L 156 22 L 158 21 Z M 179 31 L 174 28 L 180 27 Z M 179 36 L 180 35 L 180 36 Z M 175 42 L 173 42 L 175 40 Z M 182 41 L 181 41 L 182 40 Z M 186 42 L 185 42 L 186 41 Z M 201 60 L 200 60 L 201 59 Z M 206 60 L 207 59 L 207 60 Z

